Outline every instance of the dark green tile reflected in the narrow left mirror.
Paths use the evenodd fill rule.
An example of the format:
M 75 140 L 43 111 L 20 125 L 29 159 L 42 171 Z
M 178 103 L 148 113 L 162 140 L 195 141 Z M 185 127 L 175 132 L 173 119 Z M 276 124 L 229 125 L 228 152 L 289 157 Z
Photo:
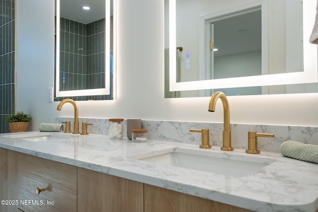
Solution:
M 60 46 L 60 90 L 78 90 L 105 87 L 105 19 L 89 24 L 61 18 Z M 112 17 L 111 17 L 112 40 Z M 112 54 L 112 46 L 111 52 Z M 112 72 L 108 72 L 112 79 Z M 110 95 L 58 97 L 74 100 L 108 100 L 112 99 L 112 82 Z

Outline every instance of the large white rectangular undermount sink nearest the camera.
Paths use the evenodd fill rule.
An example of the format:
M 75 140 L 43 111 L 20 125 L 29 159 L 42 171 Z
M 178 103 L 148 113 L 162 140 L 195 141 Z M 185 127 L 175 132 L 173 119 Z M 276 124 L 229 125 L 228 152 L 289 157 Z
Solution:
M 162 165 L 171 165 L 227 176 L 242 177 L 275 162 L 275 159 L 183 147 L 161 149 L 127 156 Z

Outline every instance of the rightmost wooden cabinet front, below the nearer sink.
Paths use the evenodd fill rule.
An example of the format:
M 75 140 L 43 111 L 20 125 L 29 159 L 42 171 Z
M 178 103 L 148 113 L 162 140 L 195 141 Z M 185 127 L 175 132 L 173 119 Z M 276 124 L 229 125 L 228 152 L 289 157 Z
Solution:
M 251 212 L 148 184 L 144 188 L 145 212 Z

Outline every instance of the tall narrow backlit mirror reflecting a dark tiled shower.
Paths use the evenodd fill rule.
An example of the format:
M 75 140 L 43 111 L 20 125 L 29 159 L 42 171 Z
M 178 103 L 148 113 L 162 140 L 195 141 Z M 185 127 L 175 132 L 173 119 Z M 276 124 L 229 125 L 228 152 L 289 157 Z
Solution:
M 55 5 L 55 100 L 115 98 L 115 0 L 56 0 Z

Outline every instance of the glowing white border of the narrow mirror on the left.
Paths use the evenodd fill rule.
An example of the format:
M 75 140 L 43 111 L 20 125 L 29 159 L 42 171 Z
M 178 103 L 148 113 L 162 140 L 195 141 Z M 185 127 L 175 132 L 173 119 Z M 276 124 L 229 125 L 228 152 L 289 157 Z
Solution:
M 110 31 L 110 1 L 105 5 L 105 31 Z M 56 84 L 55 96 L 89 96 L 110 94 L 110 74 L 105 74 L 105 88 L 60 91 L 60 0 L 56 0 Z M 110 34 L 105 33 L 105 72 L 110 71 Z M 113 99 L 116 98 L 116 0 L 113 0 Z

